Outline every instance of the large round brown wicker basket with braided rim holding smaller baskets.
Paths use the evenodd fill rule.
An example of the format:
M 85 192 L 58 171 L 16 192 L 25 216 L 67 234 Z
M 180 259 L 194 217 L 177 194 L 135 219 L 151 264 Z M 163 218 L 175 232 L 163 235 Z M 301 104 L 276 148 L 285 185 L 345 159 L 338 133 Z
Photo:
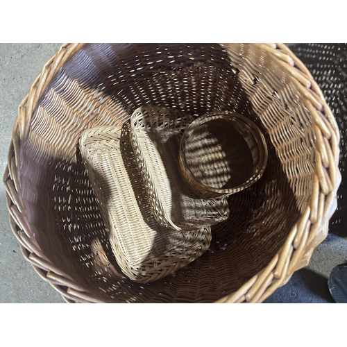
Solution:
M 269 160 L 228 197 L 208 251 L 144 285 L 118 271 L 76 148 L 85 128 L 153 104 L 240 113 L 262 129 Z M 262 302 L 326 237 L 338 158 L 335 118 L 283 44 L 64 44 L 19 105 L 4 182 L 24 257 L 67 302 Z

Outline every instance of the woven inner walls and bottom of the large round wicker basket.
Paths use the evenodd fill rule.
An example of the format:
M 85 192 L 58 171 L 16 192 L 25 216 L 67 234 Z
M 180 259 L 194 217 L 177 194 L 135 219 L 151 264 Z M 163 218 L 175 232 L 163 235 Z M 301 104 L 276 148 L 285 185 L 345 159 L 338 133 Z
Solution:
M 314 135 L 291 76 L 252 44 L 86 44 L 53 78 L 21 146 L 26 221 L 42 252 L 106 302 L 212 302 L 276 254 L 310 198 Z M 176 273 L 139 284 L 121 274 L 88 180 L 78 139 L 85 128 L 124 124 L 159 105 L 194 117 L 234 111 L 255 121 L 269 147 L 264 175 L 228 198 L 212 243 Z

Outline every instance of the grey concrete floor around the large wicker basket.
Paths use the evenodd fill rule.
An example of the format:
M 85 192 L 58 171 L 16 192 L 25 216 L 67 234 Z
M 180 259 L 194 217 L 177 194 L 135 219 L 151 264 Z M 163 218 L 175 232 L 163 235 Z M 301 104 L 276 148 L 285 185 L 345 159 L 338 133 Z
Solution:
M 60 44 L 0 44 L 0 173 L 7 153 L 17 107 L 42 66 Z M 341 210 L 341 208 L 340 208 Z M 336 232 L 339 213 L 332 217 L 331 232 L 312 255 L 310 264 L 265 303 L 332 303 L 327 280 L 337 264 L 347 262 L 347 231 Z M 0 303 L 64 303 L 60 294 L 35 273 L 20 251 L 8 223 L 5 189 L 0 184 Z

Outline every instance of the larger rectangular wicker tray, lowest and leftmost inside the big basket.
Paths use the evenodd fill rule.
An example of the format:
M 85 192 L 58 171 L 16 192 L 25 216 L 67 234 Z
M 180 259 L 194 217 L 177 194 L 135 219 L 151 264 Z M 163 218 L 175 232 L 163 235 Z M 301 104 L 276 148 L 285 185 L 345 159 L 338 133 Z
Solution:
M 211 231 L 180 232 L 155 221 L 128 129 L 127 123 L 122 128 L 85 130 L 80 139 L 81 155 L 121 270 L 131 280 L 150 282 L 203 254 L 210 246 Z

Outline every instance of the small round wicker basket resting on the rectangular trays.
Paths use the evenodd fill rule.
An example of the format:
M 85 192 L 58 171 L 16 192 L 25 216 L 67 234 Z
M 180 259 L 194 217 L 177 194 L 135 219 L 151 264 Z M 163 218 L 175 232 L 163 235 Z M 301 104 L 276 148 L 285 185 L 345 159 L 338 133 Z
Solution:
M 225 197 L 253 185 L 264 174 L 266 162 L 264 135 L 235 112 L 198 117 L 180 142 L 181 176 L 203 198 Z

